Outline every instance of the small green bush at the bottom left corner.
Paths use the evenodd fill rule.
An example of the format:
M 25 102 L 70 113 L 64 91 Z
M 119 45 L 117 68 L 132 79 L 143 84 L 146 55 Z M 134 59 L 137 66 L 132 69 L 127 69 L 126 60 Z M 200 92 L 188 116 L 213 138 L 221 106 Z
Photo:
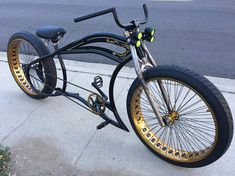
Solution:
M 2 147 L 0 145 L 0 176 L 8 176 L 9 168 L 7 166 L 10 160 L 10 150 L 7 147 Z

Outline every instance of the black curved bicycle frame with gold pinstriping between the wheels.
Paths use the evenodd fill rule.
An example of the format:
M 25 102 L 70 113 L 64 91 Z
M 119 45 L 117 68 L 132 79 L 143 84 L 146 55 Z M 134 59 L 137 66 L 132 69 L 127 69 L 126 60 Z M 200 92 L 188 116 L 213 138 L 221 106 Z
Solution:
M 124 51 L 120 53 L 101 46 L 94 46 L 94 44 L 99 44 L 99 43 L 116 45 L 118 47 L 121 47 Z M 117 75 L 119 71 L 123 68 L 123 66 L 126 65 L 128 62 L 130 62 L 132 59 L 130 48 L 126 43 L 125 37 L 110 33 L 98 33 L 98 34 L 89 35 L 81 40 L 76 40 L 60 49 L 56 49 L 50 55 L 38 58 L 37 60 L 31 62 L 29 66 L 38 63 L 40 60 L 54 58 L 55 56 L 58 56 L 58 58 L 62 60 L 61 55 L 83 54 L 83 53 L 93 53 L 93 54 L 102 55 L 118 63 L 117 67 L 115 68 L 111 76 L 111 80 L 109 83 L 109 102 L 106 103 L 107 108 L 113 112 L 116 121 L 107 117 L 107 115 L 104 113 L 101 113 L 100 116 L 105 120 L 103 125 L 107 125 L 110 123 L 124 131 L 129 131 L 124 122 L 122 121 L 122 119 L 120 118 L 114 101 L 114 84 Z M 86 106 L 89 106 L 88 101 L 79 96 L 79 94 L 68 93 L 65 91 L 67 76 L 64 73 L 66 73 L 66 68 L 63 65 L 63 62 L 60 62 L 60 65 L 63 72 L 63 88 L 60 89 L 61 92 L 58 93 L 57 91 L 56 94 L 51 94 L 48 96 L 66 95 L 68 97 L 72 97 L 81 101 Z M 56 89 L 58 90 L 58 88 Z

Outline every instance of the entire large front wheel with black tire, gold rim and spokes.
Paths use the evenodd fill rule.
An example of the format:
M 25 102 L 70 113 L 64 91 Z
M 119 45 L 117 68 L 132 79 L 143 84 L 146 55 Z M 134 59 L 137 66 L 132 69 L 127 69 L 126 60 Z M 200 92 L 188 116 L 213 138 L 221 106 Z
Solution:
M 155 91 L 154 86 L 156 86 L 156 92 L 153 94 L 155 101 L 162 103 L 159 107 L 162 117 L 166 119 L 167 126 L 160 127 L 157 124 L 156 117 L 151 116 L 153 114 L 152 109 L 146 108 L 147 106 L 151 108 L 151 106 L 148 101 L 146 102 L 146 95 L 139 80 L 135 79 L 127 96 L 127 112 L 130 123 L 142 143 L 155 155 L 182 167 L 202 167 L 220 158 L 230 146 L 233 137 L 232 115 L 220 91 L 203 76 L 178 66 L 157 66 L 145 71 L 143 75 L 152 92 Z M 195 102 L 191 102 L 192 106 L 183 104 L 184 111 L 182 103 L 179 102 L 172 106 L 173 110 L 171 109 L 170 113 L 167 108 L 163 110 L 165 104 L 164 99 L 158 98 L 157 93 L 159 93 L 159 97 L 161 95 L 160 88 L 158 89 L 158 84 L 156 84 L 158 83 L 157 80 L 163 82 L 168 95 L 172 95 L 172 97 L 173 95 L 176 95 L 175 97 L 182 95 L 181 98 L 171 99 L 173 104 L 175 101 L 172 100 L 182 100 L 182 103 L 189 103 L 194 99 Z M 182 90 L 180 86 L 183 87 Z M 180 89 L 177 88 L 178 92 L 176 92 L 175 89 L 173 91 L 172 87 Z M 196 95 L 191 100 L 190 97 L 186 97 L 187 99 L 183 97 L 183 95 L 188 96 L 189 94 L 190 97 Z M 189 102 L 187 102 L 188 99 Z M 203 106 L 194 107 L 196 104 L 198 104 L 197 106 L 203 104 Z M 191 110 L 190 108 L 193 107 L 195 109 Z M 163 115 L 164 113 L 166 115 Z M 173 123 L 169 123 L 169 121 Z M 154 127 L 157 129 L 154 129 Z M 164 132 L 155 132 L 155 130 L 163 130 Z M 208 135 L 210 136 L 208 137 Z M 205 142 L 202 145 L 199 141 Z M 196 150 L 196 147 L 199 149 Z

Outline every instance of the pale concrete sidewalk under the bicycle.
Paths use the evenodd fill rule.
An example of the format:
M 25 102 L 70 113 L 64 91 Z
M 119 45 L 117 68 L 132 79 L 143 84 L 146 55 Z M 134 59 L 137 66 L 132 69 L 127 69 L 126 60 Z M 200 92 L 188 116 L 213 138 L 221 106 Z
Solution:
M 67 61 L 69 80 L 91 88 L 95 75 L 102 75 L 107 92 L 114 66 Z M 126 113 L 126 95 L 133 69 L 124 68 L 117 79 L 115 97 L 119 113 L 130 133 L 111 125 L 96 130 L 102 120 L 63 97 L 34 100 L 13 80 L 4 53 L 0 54 L 0 140 L 12 150 L 13 173 L 22 176 L 153 176 L 232 175 L 235 143 L 217 162 L 197 169 L 168 164 L 154 156 L 136 137 Z M 212 78 L 235 116 L 235 81 Z M 87 93 L 76 88 L 70 90 Z M 110 113 L 111 114 L 111 113 Z

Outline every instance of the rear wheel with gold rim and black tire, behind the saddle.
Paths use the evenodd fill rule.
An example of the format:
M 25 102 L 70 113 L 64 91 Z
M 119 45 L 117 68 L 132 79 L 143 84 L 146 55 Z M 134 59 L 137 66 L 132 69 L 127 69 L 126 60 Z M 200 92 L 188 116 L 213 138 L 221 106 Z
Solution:
M 18 86 L 32 98 L 46 98 L 56 86 L 57 72 L 53 58 L 38 62 L 34 69 L 29 70 L 31 76 L 27 76 L 25 71 L 25 65 L 49 53 L 39 38 L 26 31 L 15 33 L 8 41 L 7 57 L 11 73 Z

